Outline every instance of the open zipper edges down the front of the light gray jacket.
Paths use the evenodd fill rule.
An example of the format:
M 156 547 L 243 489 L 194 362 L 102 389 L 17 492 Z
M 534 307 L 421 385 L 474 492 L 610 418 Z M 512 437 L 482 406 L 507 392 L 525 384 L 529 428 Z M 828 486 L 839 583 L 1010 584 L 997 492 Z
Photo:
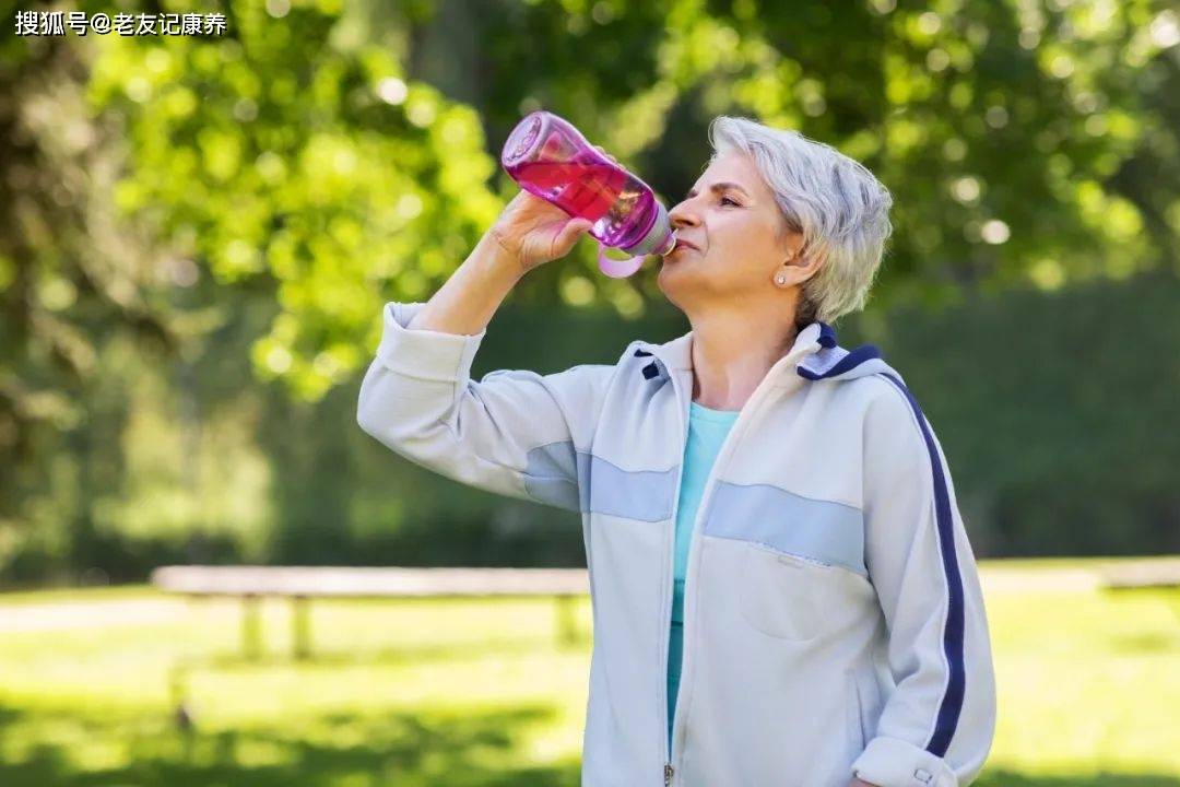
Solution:
M 761 399 L 766 395 L 766 392 L 768 389 L 771 389 L 771 388 L 774 387 L 773 385 L 769 385 L 768 381 L 778 376 L 778 367 L 779 367 L 779 365 L 788 361 L 788 359 L 791 359 L 792 355 L 793 355 L 793 353 L 788 353 L 784 358 L 779 359 L 779 361 L 775 362 L 771 367 L 771 369 L 766 373 L 766 376 L 762 378 L 762 381 L 758 385 L 758 387 L 754 388 L 754 393 L 752 393 L 750 396 L 749 396 L 749 399 L 746 400 L 746 405 L 742 406 L 741 411 L 739 412 L 739 415 L 738 415 L 736 420 L 734 420 L 734 425 L 729 429 L 729 433 L 726 435 L 726 440 L 721 445 L 721 450 L 717 452 L 717 458 L 714 460 L 713 467 L 709 470 L 709 476 L 704 480 L 704 493 L 701 496 L 701 505 L 697 507 L 697 510 L 696 510 L 696 518 L 693 520 L 691 537 L 689 539 L 690 546 L 689 546 L 689 555 L 688 555 L 688 568 L 687 568 L 687 573 L 684 575 L 684 590 L 686 590 L 686 598 L 684 598 L 684 648 L 683 648 L 683 655 L 681 657 L 682 658 L 682 661 L 681 661 L 681 675 L 680 675 L 680 684 L 677 686 L 677 695 L 676 695 L 676 711 L 677 711 L 677 717 L 680 716 L 681 697 L 683 697 L 683 695 L 684 695 L 684 684 L 689 682 L 688 681 L 688 671 L 689 671 L 688 670 L 688 664 L 689 664 L 689 652 L 690 652 L 691 649 L 688 647 L 688 643 L 689 643 L 689 635 L 688 635 L 688 632 L 689 632 L 689 623 L 693 619 L 693 615 L 689 614 L 689 605 L 691 604 L 694 609 L 696 606 L 696 604 L 695 604 L 695 599 L 696 599 L 696 592 L 695 592 L 696 583 L 694 582 L 696 572 L 694 571 L 694 569 L 696 568 L 696 562 L 700 559 L 699 556 L 697 556 L 697 553 L 700 551 L 700 538 L 696 537 L 696 527 L 700 524 L 701 518 L 708 512 L 708 506 L 713 501 L 713 492 L 714 492 L 714 487 L 716 486 L 717 473 L 723 467 L 723 465 L 729 460 L 729 457 L 733 454 L 733 450 L 734 450 L 733 447 L 734 447 L 734 445 L 736 445 L 738 440 L 741 437 L 741 428 L 745 428 L 746 424 L 749 422 L 749 420 L 754 417 L 753 413 L 758 408 L 758 406 L 761 404 Z M 794 360 L 792 359 L 791 362 L 794 362 Z M 671 376 L 671 375 L 669 374 L 669 376 Z M 678 401 L 678 389 L 675 386 L 676 386 L 675 378 L 673 378 L 673 388 L 677 392 L 677 401 Z M 689 393 L 689 399 L 691 399 L 691 393 Z M 688 442 L 688 419 L 686 418 L 686 414 L 684 414 L 687 409 L 688 409 L 687 405 L 681 408 L 681 419 L 682 419 L 682 424 L 681 425 L 682 425 L 683 433 L 684 433 L 684 444 L 686 444 L 686 446 L 687 446 L 687 442 Z M 683 451 L 684 451 L 686 446 L 681 447 L 681 457 L 683 457 Z M 683 463 L 683 459 L 681 461 Z M 681 465 L 681 473 L 680 474 L 683 478 L 683 474 L 684 474 L 683 473 L 683 464 Z M 676 556 L 675 556 L 675 549 L 676 549 L 676 534 L 675 534 L 676 533 L 676 518 L 675 517 L 676 517 L 676 513 L 678 512 L 678 507 L 680 507 L 680 481 L 677 481 L 677 484 L 676 484 L 676 501 L 675 501 L 675 504 L 673 506 L 673 556 L 671 556 L 671 559 L 673 559 L 673 564 L 671 564 L 673 565 L 673 571 L 671 571 L 671 573 L 673 575 L 675 573 L 675 559 L 676 559 Z M 669 583 L 668 609 L 666 611 L 666 617 L 668 617 L 668 618 L 671 617 L 671 596 L 673 596 L 673 593 L 670 592 L 670 590 L 671 590 L 671 583 L 674 583 L 674 582 L 675 582 L 675 577 L 673 577 L 671 582 Z M 693 588 L 691 592 L 688 591 L 689 588 Z M 667 627 L 666 627 L 666 629 L 667 629 Z M 666 634 L 666 636 L 664 636 L 664 673 L 666 674 L 667 674 L 667 670 L 668 670 L 668 636 Z M 664 697 L 663 697 L 664 730 L 662 730 L 662 732 L 667 732 L 667 727 L 668 727 L 668 697 L 667 697 L 668 682 L 667 682 L 667 680 L 661 681 L 661 684 L 664 687 L 664 690 L 663 690 L 663 694 L 664 694 Z M 676 729 L 675 723 L 676 723 L 676 721 L 675 721 L 675 719 L 673 719 L 671 742 L 670 742 L 669 748 L 668 748 L 668 759 L 664 762 L 664 787 L 670 787 L 671 786 L 671 779 L 673 779 L 673 775 L 675 774 L 675 769 L 673 767 L 673 761 L 674 761 L 673 749 L 675 749 L 676 737 L 677 737 L 677 735 L 676 735 L 677 729 Z

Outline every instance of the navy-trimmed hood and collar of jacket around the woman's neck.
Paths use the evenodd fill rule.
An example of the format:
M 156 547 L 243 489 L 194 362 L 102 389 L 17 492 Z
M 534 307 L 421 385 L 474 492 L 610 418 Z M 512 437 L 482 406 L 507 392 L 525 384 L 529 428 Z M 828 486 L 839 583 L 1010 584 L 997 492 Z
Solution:
M 638 347 L 635 355 L 654 355 L 669 370 L 688 370 L 693 368 L 693 332 L 673 339 L 663 345 L 635 342 Z M 786 376 L 791 369 L 806 380 L 856 380 L 887 372 L 900 378 L 885 362 L 880 350 L 873 345 L 861 345 L 854 349 L 840 347 L 835 329 L 826 322 L 813 322 L 795 337 L 791 350 L 773 367 L 768 376 L 776 378 L 775 385 L 788 385 Z

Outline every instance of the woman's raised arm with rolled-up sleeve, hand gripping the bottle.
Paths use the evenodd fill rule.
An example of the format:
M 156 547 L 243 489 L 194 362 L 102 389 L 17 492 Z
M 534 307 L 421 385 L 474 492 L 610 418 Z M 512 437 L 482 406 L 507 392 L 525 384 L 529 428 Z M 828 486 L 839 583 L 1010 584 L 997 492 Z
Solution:
M 428 303 L 387 303 L 356 420 L 395 453 L 460 483 L 577 511 L 612 366 L 540 375 L 471 365 L 496 309 L 531 268 L 589 228 L 522 192 Z

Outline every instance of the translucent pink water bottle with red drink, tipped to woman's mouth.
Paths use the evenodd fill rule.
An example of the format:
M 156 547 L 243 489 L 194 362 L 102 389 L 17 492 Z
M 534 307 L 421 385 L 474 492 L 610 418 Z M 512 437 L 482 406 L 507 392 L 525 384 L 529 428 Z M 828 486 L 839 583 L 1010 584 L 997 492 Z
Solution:
M 608 276 L 630 276 L 645 255 L 669 254 L 676 244 L 668 210 L 651 188 L 552 112 L 520 120 L 504 143 L 500 164 L 529 194 L 594 222 L 598 268 Z

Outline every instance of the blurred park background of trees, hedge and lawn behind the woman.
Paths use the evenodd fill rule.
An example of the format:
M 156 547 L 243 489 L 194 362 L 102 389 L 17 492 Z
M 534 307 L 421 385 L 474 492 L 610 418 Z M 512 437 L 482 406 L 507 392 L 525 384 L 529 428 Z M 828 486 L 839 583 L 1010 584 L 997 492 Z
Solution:
M 165 564 L 584 566 L 577 516 L 356 426 L 391 300 L 516 192 L 548 109 L 666 204 L 742 114 L 894 195 L 868 308 L 982 559 L 981 783 L 1180 786 L 1180 13 L 1167 0 L 0 1 L 0 783 L 577 785 L 589 667 L 544 598 L 232 599 Z M 218 35 L 21 34 L 219 13 Z M 41 20 L 38 21 L 40 24 Z M 27 33 L 27 31 L 24 31 Z M 583 242 L 476 376 L 688 329 Z M 1146 568 L 1145 568 L 1146 566 Z M 1115 592 L 1112 572 L 1153 573 Z

